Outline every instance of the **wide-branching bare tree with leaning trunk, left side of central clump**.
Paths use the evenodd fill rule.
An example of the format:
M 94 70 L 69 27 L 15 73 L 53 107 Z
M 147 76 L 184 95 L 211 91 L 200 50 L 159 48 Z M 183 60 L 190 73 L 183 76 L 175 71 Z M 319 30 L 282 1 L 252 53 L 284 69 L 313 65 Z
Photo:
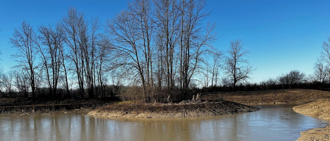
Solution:
M 147 88 L 152 83 L 151 26 L 148 0 L 136 0 L 128 4 L 128 10 L 108 20 L 106 33 L 115 56 L 113 68 L 128 66 L 139 76 L 143 97 L 148 98 Z

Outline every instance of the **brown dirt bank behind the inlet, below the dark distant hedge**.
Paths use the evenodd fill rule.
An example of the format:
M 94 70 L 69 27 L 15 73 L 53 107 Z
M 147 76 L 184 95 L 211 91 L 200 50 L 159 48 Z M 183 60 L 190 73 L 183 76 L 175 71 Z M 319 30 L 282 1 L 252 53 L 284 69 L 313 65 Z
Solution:
M 260 91 L 238 91 L 203 93 L 203 100 L 216 100 L 219 95 L 223 100 L 241 104 L 280 104 L 307 103 L 317 99 L 330 98 L 330 92 L 310 89 L 281 89 Z

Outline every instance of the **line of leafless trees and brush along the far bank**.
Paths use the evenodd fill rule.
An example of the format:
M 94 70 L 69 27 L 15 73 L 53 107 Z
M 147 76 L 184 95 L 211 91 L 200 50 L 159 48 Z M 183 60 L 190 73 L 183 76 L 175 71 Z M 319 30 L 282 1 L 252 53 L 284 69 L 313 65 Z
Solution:
M 250 52 L 241 39 L 224 51 L 213 46 L 216 24 L 206 7 L 206 0 L 132 0 L 104 23 L 74 7 L 56 23 L 23 21 L 9 39 L 16 65 L 0 75 L 1 96 L 164 102 L 241 90 L 256 70 Z M 257 85 L 326 82 L 329 44 L 323 46 L 313 75 L 291 71 Z

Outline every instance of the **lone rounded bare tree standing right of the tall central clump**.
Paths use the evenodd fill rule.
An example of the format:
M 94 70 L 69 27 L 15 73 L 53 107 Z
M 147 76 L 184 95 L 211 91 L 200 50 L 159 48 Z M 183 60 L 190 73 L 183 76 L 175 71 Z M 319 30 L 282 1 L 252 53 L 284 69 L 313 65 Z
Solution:
M 229 49 L 227 50 L 228 56 L 225 58 L 223 66 L 224 73 L 233 82 L 233 90 L 235 91 L 237 82 L 246 81 L 250 79 L 250 75 L 255 67 L 250 65 L 247 55 L 250 54 L 249 50 L 243 48 L 241 39 L 233 40 L 230 42 Z

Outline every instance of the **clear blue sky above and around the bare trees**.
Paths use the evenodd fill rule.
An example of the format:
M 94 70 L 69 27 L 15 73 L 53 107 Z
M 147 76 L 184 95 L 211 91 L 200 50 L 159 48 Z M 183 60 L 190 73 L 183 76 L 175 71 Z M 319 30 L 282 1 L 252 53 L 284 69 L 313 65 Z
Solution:
M 321 51 L 322 41 L 330 36 L 329 0 L 209 0 L 209 20 L 217 23 L 219 39 L 214 44 L 226 50 L 230 40 L 243 39 L 250 61 L 257 67 L 252 81 L 277 77 L 292 69 L 307 74 Z M 8 43 L 14 28 L 25 19 L 32 25 L 55 23 L 69 6 L 84 11 L 86 17 L 98 16 L 102 22 L 126 7 L 116 1 L 2 1 L 0 3 L 1 62 L 8 70 L 15 64 L 15 52 Z

